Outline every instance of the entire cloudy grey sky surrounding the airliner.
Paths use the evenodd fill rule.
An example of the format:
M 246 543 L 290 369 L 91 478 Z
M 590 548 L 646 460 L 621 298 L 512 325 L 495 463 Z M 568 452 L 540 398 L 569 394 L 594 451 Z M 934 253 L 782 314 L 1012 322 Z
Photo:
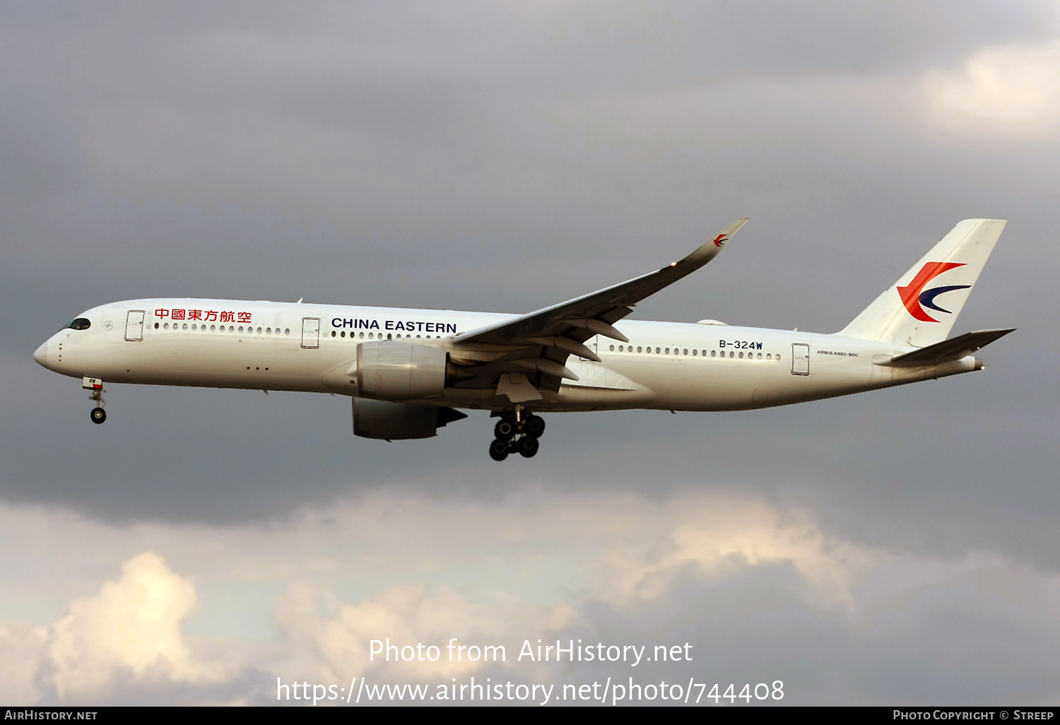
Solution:
M 4 3 L 0 702 L 632 673 L 1055 704 L 1058 157 L 1055 1 Z M 136 297 L 530 311 L 745 215 L 635 317 L 833 332 L 1001 217 L 954 332 L 1019 331 L 901 389 L 553 414 L 504 465 L 484 413 L 388 444 L 308 393 L 110 386 L 93 426 L 32 359 Z

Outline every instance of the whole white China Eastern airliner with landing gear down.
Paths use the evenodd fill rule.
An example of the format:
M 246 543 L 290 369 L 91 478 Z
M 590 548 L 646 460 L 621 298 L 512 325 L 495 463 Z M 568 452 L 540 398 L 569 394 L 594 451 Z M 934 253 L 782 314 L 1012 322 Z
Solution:
M 103 423 L 103 382 L 350 395 L 353 432 L 429 438 L 498 418 L 490 456 L 533 457 L 542 413 L 648 408 L 748 410 L 983 369 L 973 356 L 1012 330 L 947 339 L 1005 228 L 958 223 L 834 334 L 625 320 L 641 300 L 717 257 L 747 219 L 685 259 L 525 315 L 223 299 L 92 307 L 34 359 L 81 377 Z

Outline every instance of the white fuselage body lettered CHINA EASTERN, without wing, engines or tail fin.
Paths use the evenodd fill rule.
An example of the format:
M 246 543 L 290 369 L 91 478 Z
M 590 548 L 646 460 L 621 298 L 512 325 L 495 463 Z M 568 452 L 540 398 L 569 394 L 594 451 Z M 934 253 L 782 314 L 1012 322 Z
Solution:
M 130 318 L 131 312 L 131 318 Z M 142 326 L 138 312 L 143 313 Z M 82 315 L 35 354 L 73 377 L 211 388 L 357 395 L 356 348 L 414 338 L 458 356 L 454 337 L 516 315 L 235 300 L 116 302 Z M 723 324 L 624 320 L 620 343 L 586 342 L 600 362 L 571 355 L 579 381 L 564 381 L 527 408 L 743 410 L 787 405 L 976 370 L 972 357 L 921 368 L 874 365 L 913 350 L 872 340 Z M 137 339 L 139 338 L 139 339 Z M 803 347 L 805 346 L 805 347 Z M 883 356 L 883 357 L 880 357 Z M 446 388 L 418 401 L 454 408 L 511 407 L 495 390 Z

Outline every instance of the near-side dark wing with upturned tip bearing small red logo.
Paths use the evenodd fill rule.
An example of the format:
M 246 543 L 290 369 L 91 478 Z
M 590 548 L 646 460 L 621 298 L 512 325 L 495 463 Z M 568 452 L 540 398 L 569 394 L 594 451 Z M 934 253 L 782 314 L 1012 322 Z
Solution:
M 575 354 L 599 362 L 600 358 L 596 353 L 584 344 L 585 340 L 595 335 L 628 342 L 626 337 L 614 328 L 615 322 L 633 312 L 637 302 L 691 275 L 714 259 L 746 223 L 746 218 L 734 222 L 685 259 L 661 269 L 513 320 L 458 335 L 453 340 L 454 346 L 470 355 L 478 355 L 460 360 L 469 378 L 457 387 L 482 388 L 497 385 L 498 376 L 505 372 L 525 373 L 534 386 L 549 390 L 559 390 L 564 377 L 577 381 L 578 376 L 564 365 L 568 355 Z M 475 359 L 481 357 L 481 354 L 493 359 Z M 510 383 L 502 382 L 501 385 L 507 388 Z M 517 402 L 512 394 L 509 397 L 512 402 Z M 540 393 L 536 397 L 541 397 Z

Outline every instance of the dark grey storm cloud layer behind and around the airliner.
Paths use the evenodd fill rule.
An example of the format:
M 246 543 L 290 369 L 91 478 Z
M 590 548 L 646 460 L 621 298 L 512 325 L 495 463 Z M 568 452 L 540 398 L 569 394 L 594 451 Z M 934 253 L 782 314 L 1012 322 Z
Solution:
M 876 542 L 1057 565 L 1056 139 L 940 142 L 902 90 L 1041 40 L 1048 5 L 3 12 L 5 498 L 231 521 L 408 478 L 476 496 L 530 477 L 724 483 Z M 664 122 L 710 110 L 631 130 L 640 102 Z M 138 296 L 536 308 L 744 214 L 720 260 L 636 316 L 838 330 L 958 219 L 1000 216 L 955 332 L 1021 330 L 967 378 L 750 413 L 553 415 L 542 455 L 509 467 L 485 458 L 484 415 L 384 444 L 353 438 L 331 396 L 120 387 L 96 429 L 76 382 L 31 359 L 77 312 Z

